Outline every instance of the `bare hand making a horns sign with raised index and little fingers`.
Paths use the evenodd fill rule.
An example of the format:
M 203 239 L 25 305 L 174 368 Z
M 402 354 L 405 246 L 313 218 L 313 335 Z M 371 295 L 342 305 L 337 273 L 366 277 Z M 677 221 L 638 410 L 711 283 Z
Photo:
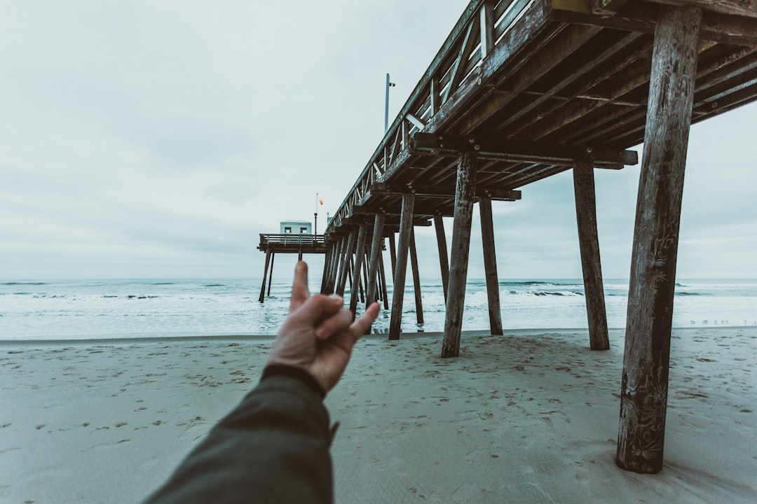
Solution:
M 339 296 L 316 294 L 307 289 L 307 264 L 294 268 L 289 314 L 276 335 L 266 366 L 304 369 L 328 392 L 337 384 L 352 348 L 378 317 L 378 303 L 370 305 L 353 322 L 353 314 Z

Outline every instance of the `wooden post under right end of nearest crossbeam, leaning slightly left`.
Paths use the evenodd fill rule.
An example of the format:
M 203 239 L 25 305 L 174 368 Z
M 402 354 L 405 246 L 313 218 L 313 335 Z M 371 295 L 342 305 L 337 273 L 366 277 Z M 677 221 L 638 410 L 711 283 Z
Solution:
M 592 350 L 609 350 L 592 162 L 577 162 L 573 165 L 573 190 L 575 192 L 575 218 L 578 222 L 578 247 L 581 249 L 581 268 L 584 271 L 584 292 L 586 293 L 584 300 L 589 320 L 589 344 Z

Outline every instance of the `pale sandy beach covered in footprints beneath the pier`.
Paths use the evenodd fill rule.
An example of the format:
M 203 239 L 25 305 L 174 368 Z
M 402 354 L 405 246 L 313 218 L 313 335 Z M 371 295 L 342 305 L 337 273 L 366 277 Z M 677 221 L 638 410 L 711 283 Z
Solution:
M 0 502 L 139 502 L 257 382 L 273 338 L 0 343 Z M 326 398 L 337 502 L 755 502 L 757 327 L 674 329 L 659 475 L 618 469 L 623 332 L 358 343 Z

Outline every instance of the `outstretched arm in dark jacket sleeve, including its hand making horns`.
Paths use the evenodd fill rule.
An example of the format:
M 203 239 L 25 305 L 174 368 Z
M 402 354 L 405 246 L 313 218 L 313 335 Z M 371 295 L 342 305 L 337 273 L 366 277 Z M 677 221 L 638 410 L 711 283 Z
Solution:
M 332 502 L 331 434 L 322 397 L 378 314 L 354 322 L 341 298 L 307 292 L 307 266 L 294 275 L 290 313 L 263 378 L 179 465 L 148 504 Z

